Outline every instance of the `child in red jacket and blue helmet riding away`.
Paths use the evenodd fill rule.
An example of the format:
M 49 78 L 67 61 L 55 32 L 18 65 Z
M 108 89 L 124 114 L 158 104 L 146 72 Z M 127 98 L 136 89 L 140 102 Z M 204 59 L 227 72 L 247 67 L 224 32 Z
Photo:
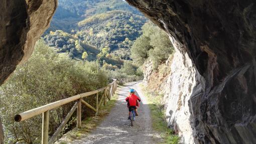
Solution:
M 136 107 L 136 106 L 139 106 L 139 104 L 137 103 L 137 100 L 141 101 L 141 99 L 137 95 L 135 95 L 135 90 L 133 88 L 130 89 L 130 95 L 125 98 L 125 101 L 127 101 L 127 107 L 129 108 L 128 119 L 130 119 L 130 114 L 133 108 L 135 109 L 136 116 L 139 115 Z

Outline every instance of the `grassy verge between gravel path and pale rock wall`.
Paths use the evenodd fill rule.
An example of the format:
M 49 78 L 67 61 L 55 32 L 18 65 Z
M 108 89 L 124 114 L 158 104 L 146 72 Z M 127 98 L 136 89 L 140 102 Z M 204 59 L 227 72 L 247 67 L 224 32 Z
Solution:
M 147 88 L 140 85 L 143 89 L 145 97 L 147 97 L 149 108 L 151 110 L 152 127 L 154 130 L 160 133 L 163 138 L 162 143 L 177 144 L 179 143 L 179 136 L 174 134 L 174 130 L 168 128 L 165 120 L 164 106 L 161 104 L 162 95 L 155 95 L 149 93 Z

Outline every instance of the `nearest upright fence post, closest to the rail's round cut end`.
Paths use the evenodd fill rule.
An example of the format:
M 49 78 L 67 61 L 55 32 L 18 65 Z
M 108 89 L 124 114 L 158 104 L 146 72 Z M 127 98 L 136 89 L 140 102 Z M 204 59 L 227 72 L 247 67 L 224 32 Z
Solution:
M 42 144 L 48 144 L 49 110 L 43 113 Z

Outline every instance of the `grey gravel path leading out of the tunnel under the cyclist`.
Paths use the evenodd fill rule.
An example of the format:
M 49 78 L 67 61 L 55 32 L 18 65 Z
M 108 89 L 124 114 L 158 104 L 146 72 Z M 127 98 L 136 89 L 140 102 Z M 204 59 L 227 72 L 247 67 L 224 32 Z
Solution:
M 141 82 L 130 82 L 117 88 L 118 100 L 101 124 L 87 136 L 81 136 L 72 143 L 158 143 L 160 136 L 152 129 L 147 100 L 139 87 Z M 142 99 L 134 126 L 127 119 L 128 109 L 125 97 L 134 88 Z

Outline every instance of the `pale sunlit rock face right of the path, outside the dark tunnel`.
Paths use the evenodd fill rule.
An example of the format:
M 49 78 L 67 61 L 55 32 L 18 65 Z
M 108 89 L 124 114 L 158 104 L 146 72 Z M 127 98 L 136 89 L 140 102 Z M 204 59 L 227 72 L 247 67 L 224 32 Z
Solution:
M 144 83 L 149 87 L 157 88 L 157 91 L 163 95 L 162 103 L 165 105 L 168 126 L 179 134 L 181 142 L 194 143 L 188 103 L 193 92 L 192 88 L 196 84 L 196 70 L 188 54 L 180 53 L 175 42 L 174 47 L 176 53 L 172 61 L 169 59 L 166 61 L 166 63 L 171 63 L 171 66 L 165 64 L 171 67 L 168 76 L 159 76 L 158 79 L 161 79 L 161 82 L 158 82 L 158 85 L 153 85 L 151 81 L 156 73 L 153 72 L 152 63 L 147 62 L 144 64 Z M 158 80 L 154 79 L 153 81 Z

